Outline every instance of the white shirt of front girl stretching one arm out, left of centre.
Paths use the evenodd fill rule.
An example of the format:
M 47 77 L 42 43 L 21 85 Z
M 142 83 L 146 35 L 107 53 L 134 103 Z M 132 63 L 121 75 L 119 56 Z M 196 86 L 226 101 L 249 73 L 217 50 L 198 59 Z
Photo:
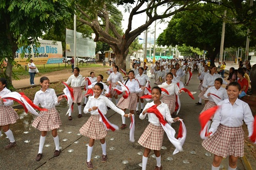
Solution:
M 109 100 L 109 98 L 106 98 L 103 95 L 100 95 L 98 97 L 98 99 L 95 99 L 94 95 L 89 96 L 89 100 L 88 100 L 86 106 L 84 107 L 83 112 L 89 113 L 89 109 L 94 106 L 98 107 L 98 109 L 101 111 L 102 114 L 106 114 L 106 112 L 108 111 L 106 106 L 109 106 L 115 112 L 121 114 L 122 116 L 124 115 L 124 112 L 121 109 L 117 108 L 116 105 L 114 105 L 114 103 L 112 103 Z M 98 109 L 90 111 L 91 115 L 98 115 L 99 114 Z

